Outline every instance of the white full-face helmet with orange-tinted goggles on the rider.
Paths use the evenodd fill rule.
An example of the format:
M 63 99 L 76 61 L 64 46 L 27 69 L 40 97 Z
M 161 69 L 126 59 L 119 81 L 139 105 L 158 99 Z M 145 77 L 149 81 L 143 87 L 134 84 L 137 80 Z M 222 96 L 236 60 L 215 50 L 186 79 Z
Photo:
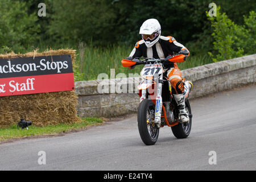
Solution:
M 147 47 L 152 47 L 161 35 L 161 26 L 157 19 L 147 19 L 141 26 L 139 34 L 142 34 L 142 39 Z

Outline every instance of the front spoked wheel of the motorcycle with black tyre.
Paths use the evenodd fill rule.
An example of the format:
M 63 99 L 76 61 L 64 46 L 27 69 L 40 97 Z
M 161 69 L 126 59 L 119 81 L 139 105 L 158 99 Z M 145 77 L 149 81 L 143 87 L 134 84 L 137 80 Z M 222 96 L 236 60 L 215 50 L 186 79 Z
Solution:
M 154 123 L 155 105 L 151 100 L 143 100 L 138 109 L 138 129 L 141 139 L 146 145 L 155 144 L 158 140 L 159 128 Z

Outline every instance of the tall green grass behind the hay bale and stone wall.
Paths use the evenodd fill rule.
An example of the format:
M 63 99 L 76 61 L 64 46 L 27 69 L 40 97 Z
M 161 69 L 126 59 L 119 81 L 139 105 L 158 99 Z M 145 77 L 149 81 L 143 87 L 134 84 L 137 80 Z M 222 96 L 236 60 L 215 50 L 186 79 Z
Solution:
M 75 72 L 75 81 L 81 80 L 97 80 L 97 77 L 100 73 L 106 73 L 110 78 L 110 69 L 114 69 L 115 75 L 118 73 L 125 73 L 128 77 L 129 73 L 137 73 L 141 72 L 143 65 L 138 65 L 134 69 L 123 68 L 121 64 L 121 60 L 125 59 L 130 55 L 134 45 L 130 46 L 107 46 L 107 47 L 94 47 L 92 44 L 87 44 L 84 48 L 84 56 L 82 60 L 84 63 L 82 64 L 82 74 L 79 74 L 80 68 L 76 69 Z M 43 52 L 49 49 L 59 49 L 59 48 L 69 48 L 77 50 L 77 64 L 81 65 L 80 58 L 80 50 L 79 45 L 72 45 L 70 43 L 56 43 L 51 45 L 51 47 L 47 46 L 47 44 L 40 42 L 38 47 L 31 46 L 28 51 L 33 51 L 34 49 L 39 49 L 39 52 Z M 213 63 L 212 59 L 209 57 L 208 53 L 200 53 L 199 55 L 194 55 L 193 52 L 196 51 L 196 47 L 190 46 L 188 47 L 191 55 L 184 63 L 178 63 L 178 67 L 182 69 L 188 69 L 197 67 L 204 64 Z M 196 52 L 199 52 L 198 50 Z M 136 76 L 136 75 L 135 75 Z M 138 76 L 138 75 L 137 75 Z

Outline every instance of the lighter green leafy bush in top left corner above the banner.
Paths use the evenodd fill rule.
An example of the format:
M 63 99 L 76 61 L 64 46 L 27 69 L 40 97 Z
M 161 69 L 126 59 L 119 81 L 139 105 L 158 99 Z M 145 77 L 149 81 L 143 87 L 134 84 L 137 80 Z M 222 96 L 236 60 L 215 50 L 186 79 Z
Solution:
M 19 52 L 35 44 L 40 26 L 36 24 L 38 18 L 35 13 L 27 13 L 27 3 L 5 0 L 0 1 L 0 7 L 0 46 Z M 1 53 L 4 53 L 2 49 Z

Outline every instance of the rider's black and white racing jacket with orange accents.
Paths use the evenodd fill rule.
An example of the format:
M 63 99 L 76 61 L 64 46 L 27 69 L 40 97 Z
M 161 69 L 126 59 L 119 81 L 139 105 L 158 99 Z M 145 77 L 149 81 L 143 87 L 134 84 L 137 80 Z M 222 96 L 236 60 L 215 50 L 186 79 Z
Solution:
M 179 52 L 181 49 L 187 49 L 182 44 L 178 43 L 172 36 L 160 36 L 158 42 L 154 46 L 148 48 L 143 40 L 140 40 L 135 44 L 133 51 L 131 51 L 130 56 L 133 59 L 135 57 L 150 57 L 155 59 L 164 59 L 168 55 L 174 55 L 174 53 Z M 165 68 L 177 67 L 175 63 L 165 63 Z

